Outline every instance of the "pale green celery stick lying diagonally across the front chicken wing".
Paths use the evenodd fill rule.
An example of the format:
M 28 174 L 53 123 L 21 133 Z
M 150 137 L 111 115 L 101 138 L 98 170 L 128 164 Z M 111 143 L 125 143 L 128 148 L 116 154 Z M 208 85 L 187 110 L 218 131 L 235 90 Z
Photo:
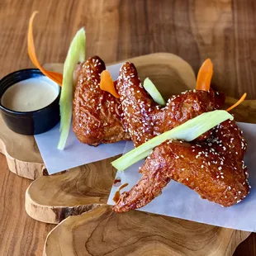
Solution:
M 153 139 L 140 145 L 138 148 L 131 150 L 127 154 L 121 156 L 121 158 L 116 159 L 111 164 L 118 170 L 124 170 L 130 165 L 135 164 L 144 159 L 145 156 L 149 155 L 150 150 L 154 147 L 162 144 L 165 140 L 186 140 L 192 141 L 197 139 L 198 136 L 210 130 L 214 126 L 217 126 L 223 121 L 233 120 L 234 117 L 230 115 L 227 111 L 216 110 L 201 114 L 191 120 L 186 121 L 180 126 L 173 128 L 173 130 L 168 130 L 162 135 L 156 136 Z M 146 152 L 148 154 L 146 154 Z

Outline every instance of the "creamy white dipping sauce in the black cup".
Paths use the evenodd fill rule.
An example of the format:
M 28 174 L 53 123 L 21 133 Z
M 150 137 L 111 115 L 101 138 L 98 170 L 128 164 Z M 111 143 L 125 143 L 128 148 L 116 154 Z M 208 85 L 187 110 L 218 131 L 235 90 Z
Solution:
M 59 85 L 50 78 L 29 78 L 7 88 L 1 104 L 13 111 L 36 111 L 50 105 L 59 94 Z

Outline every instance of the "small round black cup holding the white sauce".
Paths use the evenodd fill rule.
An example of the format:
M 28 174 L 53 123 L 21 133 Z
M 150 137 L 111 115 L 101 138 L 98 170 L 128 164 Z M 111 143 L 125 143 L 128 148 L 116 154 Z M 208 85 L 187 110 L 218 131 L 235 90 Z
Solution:
M 9 129 L 21 135 L 37 135 L 50 130 L 59 122 L 59 95 L 50 105 L 36 111 L 12 111 L 2 106 L 1 99 L 3 93 L 13 84 L 26 80 L 28 78 L 36 78 L 44 76 L 39 69 L 21 69 L 13 73 L 9 73 L 0 80 L 0 111 L 3 120 Z

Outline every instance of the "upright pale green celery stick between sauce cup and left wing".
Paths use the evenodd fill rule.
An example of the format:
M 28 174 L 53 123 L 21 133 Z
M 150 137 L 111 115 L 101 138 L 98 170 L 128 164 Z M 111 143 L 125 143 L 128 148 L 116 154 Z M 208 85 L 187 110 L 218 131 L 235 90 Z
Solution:
M 69 135 L 72 119 L 73 102 L 73 71 L 78 62 L 85 60 L 85 31 L 81 28 L 74 36 L 69 52 L 64 62 L 63 83 L 61 88 L 60 107 L 60 137 L 58 149 L 63 150 Z

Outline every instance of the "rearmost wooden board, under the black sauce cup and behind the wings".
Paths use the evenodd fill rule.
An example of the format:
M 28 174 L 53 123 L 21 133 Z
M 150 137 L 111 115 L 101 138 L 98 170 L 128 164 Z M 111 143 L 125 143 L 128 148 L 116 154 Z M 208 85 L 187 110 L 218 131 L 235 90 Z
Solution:
M 149 76 L 153 82 L 161 84 L 160 89 L 165 96 L 178 93 L 186 88 L 194 88 L 195 74 L 191 66 L 177 55 L 157 53 L 120 62 L 127 60 L 135 64 L 140 78 L 144 79 Z M 45 64 L 45 68 L 61 73 L 63 64 Z M 170 84 L 170 78 L 172 84 Z M 1 115 L 0 153 L 6 155 L 9 169 L 21 177 L 36 179 L 48 175 L 34 137 L 18 135 L 9 130 Z

